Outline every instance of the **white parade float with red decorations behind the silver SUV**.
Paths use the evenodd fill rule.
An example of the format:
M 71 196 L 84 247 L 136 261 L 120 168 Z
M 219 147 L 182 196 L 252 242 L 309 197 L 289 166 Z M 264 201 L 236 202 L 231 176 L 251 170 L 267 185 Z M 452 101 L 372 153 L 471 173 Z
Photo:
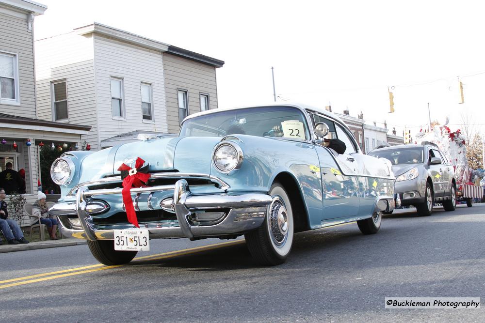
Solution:
M 448 119 L 444 125 L 431 123 L 431 131 L 422 129 L 416 135 L 415 143 L 423 141 L 433 142 L 444 152 L 446 158 L 453 165 L 456 180 L 457 201 L 465 201 L 467 206 L 473 206 L 473 199 L 482 199 L 484 188 L 474 185 L 472 181 L 483 177 L 483 172 L 469 168 L 467 160 L 467 138 L 460 129 L 452 131 L 448 126 Z

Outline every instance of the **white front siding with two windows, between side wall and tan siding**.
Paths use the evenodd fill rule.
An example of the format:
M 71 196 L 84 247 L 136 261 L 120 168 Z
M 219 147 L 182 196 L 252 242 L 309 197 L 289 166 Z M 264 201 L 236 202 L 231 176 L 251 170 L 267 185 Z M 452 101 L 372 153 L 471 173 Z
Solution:
M 133 130 L 167 132 L 162 53 L 97 34 L 94 44 L 98 144 L 103 139 Z M 113 119 L 110 77 L 123 78 L 126 120 Z M 141 82 L 152 84 L 154 122 L 143 120 Z

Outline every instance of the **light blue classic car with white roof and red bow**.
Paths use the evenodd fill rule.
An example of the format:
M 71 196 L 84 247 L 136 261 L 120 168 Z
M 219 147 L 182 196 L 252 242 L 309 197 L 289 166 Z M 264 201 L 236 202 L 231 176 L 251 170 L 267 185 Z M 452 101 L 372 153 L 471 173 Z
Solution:
M 336 138 L 339 153 L 325 146 Z M 256 261 L 280 264 L 295 232 L 356 221 L 376 233 L 400 204 L 388 160 L 362 154 L 334 114 L 299 104 L 199 112 L 177 137 L 65 153 L 51 177 L 62 233 L 87 239 L 107 265 L 131 261 L 150 239 L 241 235 Z

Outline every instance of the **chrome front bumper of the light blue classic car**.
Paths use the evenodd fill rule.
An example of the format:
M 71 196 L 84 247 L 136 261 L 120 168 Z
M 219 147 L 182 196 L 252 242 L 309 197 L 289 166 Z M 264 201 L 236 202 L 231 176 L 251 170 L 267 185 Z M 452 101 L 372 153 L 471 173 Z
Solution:
M 74 202 L 60 202 L 54 204 L 50 209 L 52 215 L 59 216 L 59 229 L 65 236 L 96 240 L 113 240 L 114 230 L 97 229 L 92 215 L 86 212 L 86 205 L 97 195 L 119 194 L 121 188 L 89 190 L 87 186 L 79 187 Z M 247 194 L 210 194 L 193 195 L 185 179 L 178 180 L 175 185 L 160 185 L 141 188 L 132 188 L 132 194 L 174 191 L 171 201 L 171 209 L 177 215 L 177 221 L 170 223 L 140 223 L 140 228 L 149 231 L 150 238 L 189 238 L 225 236 L 242 234 L 257 229 L 266 216 L 268 205 L 271 203 L 271 196 L 264 193 Z M 137 198 L 135 198 L 136 203 Z M 151 206 L 151 209 L 166 209 L 167 205 Z M 135 207 L 137 209 L 137 207 Z M 215 225 L 196 225 L 190 220 L 190 215 L 196 211 L 212 211 L 217 209 L 229 209 L 224 219 Z M 76 227 L 66 221 L 63 215 L 77 215 L 80 226 Z M 132 225 L 119 224 L 112 227 L 119 229 L 131 229 Z

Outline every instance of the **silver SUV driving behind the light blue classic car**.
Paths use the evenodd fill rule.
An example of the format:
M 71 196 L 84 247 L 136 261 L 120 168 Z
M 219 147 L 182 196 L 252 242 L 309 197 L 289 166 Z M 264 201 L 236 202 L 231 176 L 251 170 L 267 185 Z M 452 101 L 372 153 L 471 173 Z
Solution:
M 454 169 L 434 143 L 379 148 L 369 155 L 390 160 L 402 205 L 416 206 L 419 215 L 431 215 L 434 202 L 442 203 L 445 211 L 455 209 Z

